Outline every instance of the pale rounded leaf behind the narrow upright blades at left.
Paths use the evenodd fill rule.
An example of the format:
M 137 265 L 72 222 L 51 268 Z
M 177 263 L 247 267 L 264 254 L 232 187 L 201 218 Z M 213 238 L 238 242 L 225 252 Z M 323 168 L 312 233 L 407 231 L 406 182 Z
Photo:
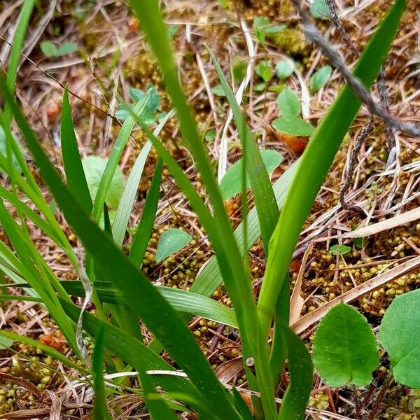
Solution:
M 96 199 L 99 184 L 101 183 L 107 163 L 108 159 L 100 158 L 99 156 L 88 156 L 82 160 L 83 170 L 85 172 L 87 186 L 89 187 L 92 201 Z M 118 207 L 123 190 L 124 175 L 121 169 L 117 167 L 105 198 L 106 204 L 111 207 L 111 209 L 116 209 Z

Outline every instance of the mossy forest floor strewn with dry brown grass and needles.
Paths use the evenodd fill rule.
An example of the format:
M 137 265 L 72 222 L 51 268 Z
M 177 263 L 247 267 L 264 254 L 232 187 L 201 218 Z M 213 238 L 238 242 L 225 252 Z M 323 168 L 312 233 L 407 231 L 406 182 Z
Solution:
M 244 109 L 260 148 L 274 149 L 283 156 L 281 164 L 272 174 L 272 181 L 276 181 L 304 149 L 302 139 L 286 137 L 272 127 L 272 121 L 279 116 L 279 90 L 285 84 L 293 90 L 302 103 L 307 104 L 307 111 L 304 111 L 307 112 L 307 120 L 316 126 L 337 97 L 343 84 L 342 77 L 334 70 L 323 87 L 316 92 L 309 89 L 311 76 L 316 70 L 328 65 L 328 62 L 316 46 L 305 41 L 300 22 L 288 0 L 164 0 L 162 3 L 165 5 L 179 74 L 189 103 L 195 110 L 200 133 L 207 141 L 215 172 L 219 166 L 223 171 L 223 165 L 219 165 L 219 157 L 223 153 L 223 135 L 228 144 L 228 166 L 240 157 L 241 147 L 234 124 L 226 126 L 223 131 L 229 108 L 218 89 L 216 72 L 204 44 L 214 50 L 225 74 L 234 75 L 239 78 L 239 82 L 248 66 L 251 66 L 253 77 L 244 93 Z M 379 20 L 388 10 L 389 3 L 388 0 L 337 1 L 339 18 L 358 50 L 363 50 Z M 386 60 L 385 87 L 391 113 L 404 120 L 419 122 L 419 10 L 417 0 L 409 0 L 407 3 L 407 12 Z M 21 4 L 22 1 L 12 0 L 3 1 L 0 5 L 2 66 L 6 66 L 8 57 L 8 44 L 4 40 L 13 38 Z M 258 34 L 254 30 L 257 17 L 267 18 L 270 25 L 284 24 L 286 28 L 266 36 L 262 44 L 258 42 Z M 315 22 L 352 67 L 357 57 L 334 23 L 322 15 Z M 83 156 L 109 155 L 120 129 L 110 114 L 118 109 L 118 104 L 130 102 L 130 87 L 145 90 L 148 85 L 153 85 L 160 94 L 160 111 L 169 111 L 169 100 L 155 59 L 138 29 L 137 20 L 123 1 L 51 0 L 36 3 L 22 51 L 16 94 L 57 167 L 62 167 L 59 113 L 64 85 L 69 85 L 71 91 L 73 119 Z M 76 44 L 77 50 L 66 55 L 46 57 L 45 50 L 41 50 L 41 43 L 45 46 L 45 41 L 57 46 Z M 285 57 L 294 60 L 296 71 L 282 80 L 276 73 L 276 64 Z M 239 82 L 234 84 L 235 88 Z M 373 94 L 379 99 L 377 87 L 374 87 Z M 307 338 L 308 343 L 319 319 L 316 315 L 319 311 L 316 311 L 325 302 L 341 297 L 361 283 L 367 285 L 368 292 L 363 295 L 356 292 L 352 302 L 374 327 L 379 325 L 381 316 L 395 295 L 419 288 L 420 285 L 419 266 L 410 274 L 390 279 L 379 288 L 374 283 L 377 276 L 420 254 L 420 221 L 406 223 L 400 216 L 420 207 L 420 139 L 412 139 L 397 132 L 391 140 L 384 123 L 375 118 L 373 131 L 360 148 L 353 176 L 347 176 L 350 151 L 369 118 L 368 111 L 363 108 L 354 121 L 318 193 L 290 266 L 294 296 L 292 319 L 296 325 L 299 325 L 302 316 L 306 316 L 305 320 L 309 319 L 305 324 L 309 326 L 301 331 L 301 336 Z M 160 139 L 181 163 L 197 190 L 204 194 L 190 154 L 181 141 L 175 119 L 165 126 Z M 134 130 L 120 160 L 120 168 L 125 176 L 130 174 L 134 159 L 145 141 L 144 134 L 138 129 Z M 397 153 L 395 160 L 391 159 L 387 165 L 390 141 L 394 142 L 391 147 L 395 145 Z M 136 225 L 141 216 L 155 162 L 156 155 L 152 151 L 130 216 L 130 226 Z M 362 211 L 346 209 L 340 203 L 339 190 L 346 179 L 349 179 L 349 189 L 345 202 Z M 46 188 L 44 190 L 47 195 Z M 188 289 L 197 272 L 213 253 L 197 217 L 167 171 L 164 171 L 161 193 L 154 233 L 144 258 L 143 269 L 153 281 Z M 235 226 L 240 221 L 239 204 L 239 197 L 226 202 Z M 345 232 L 358 225 L 365 226 L 388 219 L 398 221 L 391 230 L 373 231 L 365 239 L 342 238 Z M 62 224 L 76 246 L 77 238 L 66 227 L 64 220 Z M 186 230 L 193 241 L 176 255 L 158 263 L 155 261 L 158 239 L 162 232 L 174 227 Z M 34 243 L 59 278 L 76 278 L 64 252 L 43 237 L 36 226 L 31 229 Z M 130 244 L 131 239 L 131 235 L 127 234 L 126 244 Z M 262 244 L 258 241 L 250 251 L 255 293 L 258 293 L 265 269 L 263 255 Z M 14 293 L 19 295 L 22 290 L 16 289 Z M 216 290 L 213 297 L 224 304 L 230 304 L 223 288 Z M 310 318 L 310 314 L 314 316 Z M 48 313 L 37 303 L 19 300 L 3 302 L 0 306 L 0 323 L 3 329 L 39 339 L 64 353 L 69 352 Z M 226 384 L 246 387 L 240 343 L 235 330 L 197 317 L 190 322 L 190 328 L 221 380 Z M 420 406 L 420 395 L 414 391 L 391 384 L 384 398 L 379 396 L 378 399 L 388 368 L 386 356 L 382 356 L 382 365 L 375 372 L 374 384 L 370 388 L 332 389 L 317 377 L 309 404 L 314 409 L 310 416 L 313 419 L 356 419 L 355 409 L 367 398 L 365 414 L 360 414 L 366 415 L 365 418 L 370 418 L 367 413 L 376 404 L 379 409 L 375 419 L 417 419 L 420 416 L 420 411 L 416 414 L 416 407 Z M 40 360 L 49 364 L 51 370 L 40 367 Z M 89 418 L 92 402 L 89 389 L 85 386 L 74 387 L 72 381 L 77 379 L 75 373 L 46 358 L 40 351 L 17 343 L 10 349 L 1 350 L 1 372 L 22 377 L 57 395 L 71 389 L 72 398 L 80 403 L 80 407 L 62 414 L 60 418 Z M 0 384 L 1 381 L 3 379 L 0 376 Z M 25 400 L 25 403 L 17 401 L 13 391 L 15 386 L 9 380 L 0 385 L 0 414 L 3 414 L 0 418 L 17 419 L 18 414 L 7 416 L 6 413 L 27 408 L 25 403 L 31 402 L 31 398 Z M 36 402 L 33 404 L 36 405 Z M 147 414 L 141 412 L 141 400 L 128 391 L 114 398 L 113 409 L 119 413 L 115 417 L 118 419 L 147 418 Z M 39 418 L 45 416 L 40 414 Z

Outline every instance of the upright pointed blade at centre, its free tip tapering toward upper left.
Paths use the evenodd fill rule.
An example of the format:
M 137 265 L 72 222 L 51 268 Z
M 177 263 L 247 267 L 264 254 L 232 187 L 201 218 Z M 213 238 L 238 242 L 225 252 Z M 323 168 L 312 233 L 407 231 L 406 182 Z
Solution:
M 246 162 L 246 167 L 251 168 L 251 170 L 248 170 L 247 172 L 255 200 L 255 208 L 257 209 L 265 255 L 268 255 L 269 238 L 272 236 L 273 230 L 279 219 L 279 209 L 276 205 L 276 198 L 271 182 L 269 181 L 267 169 L 265 168 L 264 162 L 262 162 L 258 146 L 255 144 L 251 130 L 249 130 L 248 125 L 246 125 L 245 116 L 241 109 L 239 109 L 235 95 L 228 85 L 228 80 L 226 80 L 213 51 L 211 51 L 210 48 L 207 48 L 207 50 L 213 61 L 218 78 L 221 80 L 221 85 L 226 98 L 228 99 L 230 108 L 232 109 L 242 148 L 244 151 L 245 148 L 247 149 L 247 153 L 244 153 L 244 162 Z

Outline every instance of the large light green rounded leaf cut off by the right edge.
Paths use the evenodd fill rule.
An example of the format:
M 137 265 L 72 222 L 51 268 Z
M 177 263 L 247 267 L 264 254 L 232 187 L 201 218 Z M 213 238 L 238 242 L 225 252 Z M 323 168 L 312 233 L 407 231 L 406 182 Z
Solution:
M 420 289 L 395 297 L 379 328 L 395 380 L 420 389 Z

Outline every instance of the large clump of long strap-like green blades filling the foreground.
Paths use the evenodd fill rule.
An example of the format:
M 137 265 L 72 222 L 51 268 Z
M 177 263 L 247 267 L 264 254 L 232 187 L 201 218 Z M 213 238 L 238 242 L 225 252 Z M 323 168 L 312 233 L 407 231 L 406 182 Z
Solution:
M 310 134 L 313 136 L 307 150 L 282 180 L 283 186 L 284 183 L 288 186 L 294 174 L 290 193 L 284 201 L 283 211 L 279 216 L 276 193 L 279 193 L 279 189 L 281 190 L 281 183 L 277 184 L 279 189 L 272 187 L 262 153 L 258 150 L 251 130 L 246 125 L 246 118 L 239 109 L 218 62 L 209 51 L 221 80 L 223 94 L 232 108 L 244 155 L 240 168 L 243 220 L 239 230 L 234 233 L 207 150 L 200 139 L 195 119 L 179 83 L 169 40 L 166 36 L 161 36 L 165 34 L 166 27 L 158 1 L 142 3 L 131 1 L 130 5 L 141 21 L 141 27 L 158 58 L 167 93 L 177 111 L 183 141 L 193 156 L 197 171 L 200 172 L 202 184 L 207 190 L 211 211 L 207 207 L 207 202 L 204 202 L 197 194 L 183 169 L 157 139 L 165 121 L 171 115 L 160 121 L 160 125 L 153 133 L 148 129 L 148 121 L 142 118 L 153 95 L 150 89 L 146 94 L 137 97 L 137 104 L 133 108 L 127 108 L 125 122 L 120 129 L 109 160 L 106 162 L 92 202 L 88 182 L 78 155 L 71 113 L 66 104 L 68 102 L 66 92 L 64 93 L 66 106 L 63 107 L 65 112 L 63 111 L 62 115 L 62 124 L 65 128 L 62 131 L 66 130 L 69 135 L 66 139 L 62 139 L 64 141 L 62 150 L 67 185 L 41 148 L 27 120 L 22 116 L 7 81 L 0 78 L 0 92 L 10 109 L 10 115 L 15 118 L 15 123 L 25 139 L 43 182 L 50 189 L 67 223 L 83 243 L 86 251 L 86 266 L 83 267 L 39 191 L 25 159 L 13 140 L 9 125 L 4 124 L 5 113 L 1 113 L 0 123 L 4 127 L 6 140 L 10 144 L 10 149 L 13 149 L 17 155 L 25 179 L 11 165 L 10 153 L 7 158 L 0 155 L 0 167 L 8 173 L 10 179 L 13 179 L 13 183 L 19 190 L 38 206 L 45 220 L 39 218 L 25 202 L 22 202 L 15 190 L 13 193 L 0 190 L 3 200 L 8 200 L 18 209 L 21 222 L 16 223 L 6 207 L 2 202 L 0 203 L 0 218 L 13 247 L 12 251 L 6 244 L 0 242 L 0 269 L 14 283 L 29 286 L 28 290 L 34 294 L 33 299 L 41 298 L 73 351 L 80 357 L 85 356 L 85 349 L 80 346 L 79 328 L 76 328 L 76 323 L 80 325 L 80 317 L 83 320 L 83 329 L 94 337 L 96 344 L 92 370 L 94 387 L 97 391 L 97 407 L 95 407 L 97 418 L 106 416 L 102 384 L 102 364 L 105 360 L 108 366 L 114 364 L 117 369 L 124 362 L 137 370 L 144 400 L 151 416 L 155 419 L 174 419 L 172 411 L 174 400 L 183 404 L 176 405 L 175 409 L 180 407 L 193 409 L 203 419 L 252 419 L 253 417 L 258 420 L 303 419 L 311 391 L 312 366 L 304 342 L 288 328 L 288 266 L 297 237 L 316 193 L 361 104 L 349 87 L 344 87 L 321 124 L 315 131 L 311 127 Z M 395 3 L 359 59 L 355 73 L 367 87 L 372 85 L 379 73 L 398 28 L 404 5 L 403 0 Z M 118 204 L 118 209 L 121 210 L 119 213 L 117 211 L 112 228 L 105 221 L 105 230 L 102 230 L 97 223 L 102 210 L 106 209 L 104 204 L 118 167 L 118 161 L 136 123 L 144 130 L 149 142 L 144 146 L 138 161 L 134 164 L 130 182 L 127 182 L 123 197 Z M 287 124 L 287 121 L 283 123 Z M 291 125 L 290 122 L 289 125 Z M 127 211 L 130 211 L 132 207 L 134 190 L 141 178 L 144 162 L 152 144 L 160 160 L 155 169 L 148 201 L 139 228 L 137 228 L 130 255 L 127 257 L 121 251 L 123 237 L 127 230 Z M 212 267 L 218 270 L 213 272 L 213 278 L 207 281 L 209 276 L 209 271 L 207 271 L 207 278 L 202 276 L 200 279 L 199 277 L 190 293 L 183 290 L 171 292 L 167 288 L 158 288 L 139 270 L 153 228 L 162 162 L 165 162 L 169 172 L 200 218 L 200 223 L 209 236 L 216 254 L 216 260 L 214 260 L 216 262 L 212 262 Z M 255 211 L 250 214 L 246 206 L 248 185 L 251 186 L 255 202 Z M 40 226 L 44 232 L 63 248 L 78 273 L 80 281 L 64 283 L 57 279 L 32 244 L 25 218 L 41 223 Z M 258 302 L 255 302 L 253 296 L 247 258 L 248 246 L 255 241 L 259 233 L 255 225 L 259 225 L 267 258 Z M 33 267 L 36 269 L 32 269 Z M 235 312 L 222 308 L 221 304 L 215 304 L 215 302 L 211 304 L 210 299 L 206 297 L 220 285 L 222 280 Z M 198 291 L 200 295 L 197 295 Z M 69 293 L 86 297 L 92 294 L 97 316 L 80 311 L 71 302 Z M 195 300 L 200 303 L 197 304 Z M 181 316 L 179 311 L 184 311 L 187 315 Z M 211 370 L 207 358 L 185 322 L 188 314 L 191 313 L 213 317 L 217 321 L 239 328 L 248 384 L 251 390 L 258 393 L 253 396 L 253 413 L 244 404 L 241 395 L 237 391 L 228 393 Z M 112 323 L 107 322 L 110 314 Z M 174 367 L 158 356 L 158 349 L 161 349 L 159 343 L 154 342 L 146 346 L 142 342 L 139 321 L 155 335 L 158 342 L 172 356 L 187 377 L 151 373 L 153 370 L 174 371 Z M 268 338 L 272 321 L 274 321 L 274 338 L 272 345 L 269 346 Z M 118 356 L 118 360 L 113 357 L 115 355 Z M 282 396 L 281 405 L 278 407 L 275 390 L 286 358 L 290 381 L 286 393 Z M 86 363 L 89 364 L 89 360 L 86 360 Z M 158 391 L 158 387 L 166 393 Z M 217 411 L 214 407 L 218 407 Z

